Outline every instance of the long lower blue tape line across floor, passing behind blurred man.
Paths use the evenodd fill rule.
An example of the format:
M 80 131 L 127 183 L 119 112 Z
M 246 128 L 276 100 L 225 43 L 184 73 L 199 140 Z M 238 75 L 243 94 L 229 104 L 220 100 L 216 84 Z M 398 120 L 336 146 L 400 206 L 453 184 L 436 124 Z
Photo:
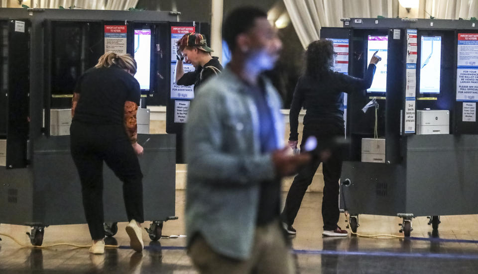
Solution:
M 119 246 L 119 249 L 131 249 L 129 246 Z M 145 250 L 186 250 L 186 247 L 175 246 L 145 246 Z M 465 259 L 478 260 L 478 254 L 441 254 L 441 253 L 404 253 L 387 251 L 347 251 L 347 250 L 305 250 L 294 249 L 295 254 L 308 255 L 342 255 L 342 256 L 375 256 L 375 257 L 413 257 L 413 258 L 436 258 L 436 259 Z

